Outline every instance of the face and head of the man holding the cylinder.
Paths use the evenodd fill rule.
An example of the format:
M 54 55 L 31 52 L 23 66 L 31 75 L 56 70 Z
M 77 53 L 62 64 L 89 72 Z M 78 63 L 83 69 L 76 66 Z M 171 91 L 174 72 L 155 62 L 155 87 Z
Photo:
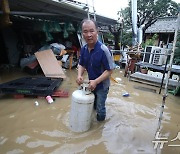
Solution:
M 97 42 L 97 29 L 92 21 L 84 22 L 82 25 L 83 37 L 88 45 L 94 45 Z

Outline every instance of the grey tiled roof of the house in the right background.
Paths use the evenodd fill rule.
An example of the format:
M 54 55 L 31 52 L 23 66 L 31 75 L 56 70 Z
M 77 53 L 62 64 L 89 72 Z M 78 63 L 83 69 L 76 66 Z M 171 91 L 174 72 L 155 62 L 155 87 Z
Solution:
M 163 17 L 152 24 L 145 33 L 173 33 L 177 28 L 177 17 Z

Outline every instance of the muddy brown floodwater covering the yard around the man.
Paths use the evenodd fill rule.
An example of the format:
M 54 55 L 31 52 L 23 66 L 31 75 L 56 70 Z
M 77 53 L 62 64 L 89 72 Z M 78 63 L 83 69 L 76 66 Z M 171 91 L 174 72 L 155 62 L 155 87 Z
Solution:
M 179 154 L 180 97 L 168 94 L 157 136 L 160 139 L 155 139 L 164 90 L 159 95 L 157 87 L 128 81 L 123 71 L 115 70 L 112 75 L 118 83 L 111 81 L 106 120 L 97 122 L 94 118 L 91 128 L 83 133 L 69 129 L 76 69 L 65 71 L 67 78 L 59 87 L 67 90 L 69 97 L 56 98 L 52 104 L 43 98 L 0 96 L 0 153 Z M 0 83 L 23 76 L 29 75 L 21 71 L 1 73 Z M 125 92 L 128 97 L 122 96 Z

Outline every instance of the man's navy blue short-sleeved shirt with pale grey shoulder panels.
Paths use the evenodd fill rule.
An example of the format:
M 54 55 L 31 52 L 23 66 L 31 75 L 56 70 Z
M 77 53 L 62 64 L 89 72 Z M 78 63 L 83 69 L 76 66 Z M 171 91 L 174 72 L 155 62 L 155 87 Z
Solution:
M 100 41 L 97 41 L 94 49 L 88 50 L 87 45 L 81 48 L 79 65 L 86 68 L 89 80 L 95 80 L 105 70 L 113 69 L 111 51 Z M 99 83 L 96 89 L 107 88 L 110 85 L 109 78 Z

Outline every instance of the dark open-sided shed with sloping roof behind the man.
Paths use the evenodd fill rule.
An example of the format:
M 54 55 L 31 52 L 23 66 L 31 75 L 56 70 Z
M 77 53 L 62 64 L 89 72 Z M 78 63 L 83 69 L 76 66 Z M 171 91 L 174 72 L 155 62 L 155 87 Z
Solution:
M 87 4 L 75 1 L 5 2 L 2 4 L 6 9 L 1 11 L 1 64 L 24 67 L 22 58 L 48 48 L 52 43 L 62 44 L 61 47 L 66 47 L 70 53 L 73 47 L 79 51 L 82 44 L 80 22 L 88 15 L 96 17 L 99 26 L 116 23 L 116 20 L 87 12 Z

